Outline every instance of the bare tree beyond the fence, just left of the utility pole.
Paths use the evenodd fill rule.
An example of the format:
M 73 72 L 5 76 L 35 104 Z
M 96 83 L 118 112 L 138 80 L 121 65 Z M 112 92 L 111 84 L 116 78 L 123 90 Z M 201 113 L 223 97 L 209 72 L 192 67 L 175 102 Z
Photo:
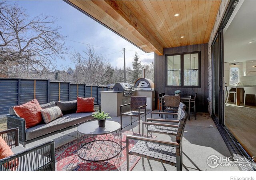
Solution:
M 107 67 L 111 66 L 106 57 L 97 54 L 90 46 L 83 51 L 83 54 L 77 51 L 72 53 L 71 61 L 76 64 L 76 68 L 79 68 L 79 74 L 76 74 L 76 70 L 74 74 L 84 79 L 87 85 L 103 84 L 106 80 Z

